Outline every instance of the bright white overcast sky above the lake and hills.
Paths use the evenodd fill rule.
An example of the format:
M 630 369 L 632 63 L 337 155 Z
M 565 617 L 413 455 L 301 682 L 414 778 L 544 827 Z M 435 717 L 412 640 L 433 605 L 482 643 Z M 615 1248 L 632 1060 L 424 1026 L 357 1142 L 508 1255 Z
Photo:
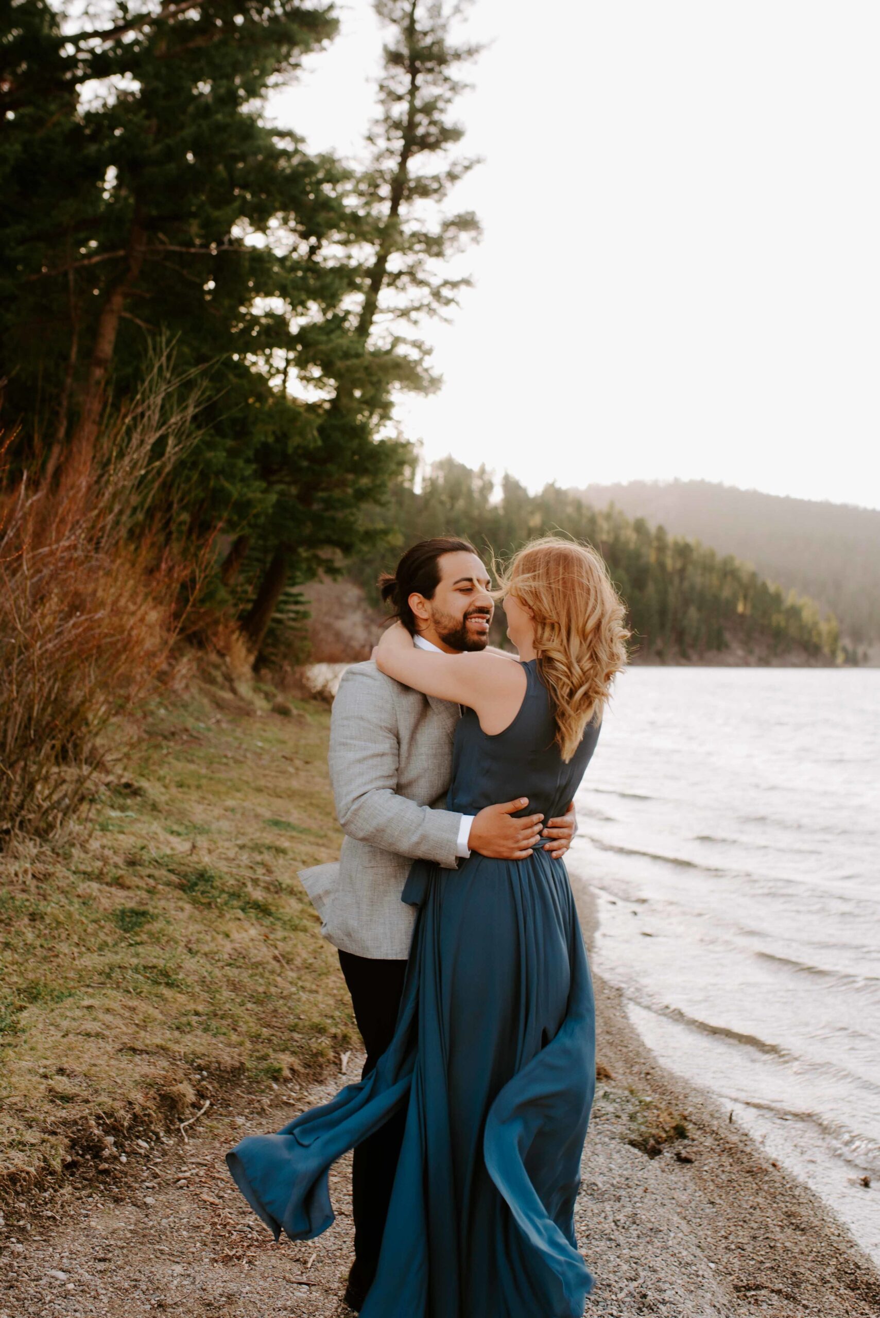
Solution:
M 354 156 L 381 30 L 271 101 Z M 485 237 L 406 434 L 531 489 L 703 477 L 880 507 L 876 0 L 477 0 Z

